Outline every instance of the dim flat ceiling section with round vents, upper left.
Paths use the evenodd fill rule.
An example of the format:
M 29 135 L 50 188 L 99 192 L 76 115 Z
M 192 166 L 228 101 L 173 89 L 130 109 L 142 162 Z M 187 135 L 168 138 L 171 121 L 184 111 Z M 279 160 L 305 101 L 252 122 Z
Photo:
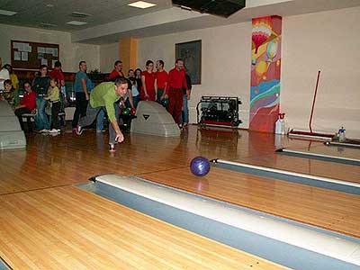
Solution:
M 58 31 L 77 31 L 172 6 L 171 0 L 149 0 L 148 2 L 157 5 L 148 9 L 127 5 L 136 1 L 138 0 L 0 0 L 0 9 L 18 13 L 14 16 L 0 15 L 0 23 Z M 71 15 L 72 12 L 91 14 L 91 16 L 76 18 Z M 67 24 L 70 21 L 87 24 L 72 26 Z M 43 27 L 41 23 L 51 23 L 56 26 Z

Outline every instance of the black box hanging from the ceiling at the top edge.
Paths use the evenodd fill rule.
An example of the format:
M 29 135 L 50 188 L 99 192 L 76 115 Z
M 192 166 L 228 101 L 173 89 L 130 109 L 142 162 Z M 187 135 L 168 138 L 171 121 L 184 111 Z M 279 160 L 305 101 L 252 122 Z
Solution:
M 245 7 L 245 0 L 172 0 L 173 4 L 191 8 L 202 14 L 229 17 Z

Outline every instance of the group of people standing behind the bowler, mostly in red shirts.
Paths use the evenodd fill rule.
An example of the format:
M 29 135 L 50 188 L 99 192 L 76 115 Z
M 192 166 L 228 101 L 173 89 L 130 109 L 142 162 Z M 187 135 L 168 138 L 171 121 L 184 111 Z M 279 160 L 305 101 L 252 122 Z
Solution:
M 154 62 L 148 60 L 146 62 L 146 69 L 141 71 L 137 68 L 130 69 L 127 76 L 122 71 L 121 60 L 116 60 L 112 72 L 107 77 L 107 81 L 114 82 L 116 78 L 125 78 L 128 82 L 129 92 L 126 101 L 117 101 L 114 103 L 115 115 L 119 119 L 119 111 L 121 106 L 126 106 L 131 109 L 136 109 L 140 100 L 156 101 L 162 103 L 168 99 L 167 111 L 171 113 L 174 121 L 180 128 L 185 128 L 189 122 L 189 113 L 187 101 L 190 99 L 191 93 L 191 79 L 185 72 L 184 61 L 176 59 L 175 67 L 166 72 L 164 69 L 164 61 L 157 60 L 154 71 Z M 91 80 L 86 76 L 86 63 L 81 61 L 79 63 L 79 71 L 75 78 L 75 92 L 76 92 L 76 110 L 72 121 L 73 130 L 79 118 L 86 115 L 86 108 L 90 99 L 90 92 L 93 88 Z M 105 109 L 102 108 L 97 114 L 96 130 L 103 130 L 103 116 Z

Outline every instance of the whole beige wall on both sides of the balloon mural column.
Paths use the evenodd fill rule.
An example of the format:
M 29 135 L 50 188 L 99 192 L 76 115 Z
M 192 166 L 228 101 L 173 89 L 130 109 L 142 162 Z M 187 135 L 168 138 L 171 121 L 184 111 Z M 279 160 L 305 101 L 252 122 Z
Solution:
M 289 127 L 307 129 L 317 71 L 321 70 L 313 129 L 360 138 L 360 7 L 283 18 L 281 111 Z M 163 58 L 173 66 L 175 43 L 202 40 L 202 85 L 193 86 L 191 121 L 201 95 L 240 96 L 248 127 L 251 23 L 185 31 L 139 40 L 138 66 Z

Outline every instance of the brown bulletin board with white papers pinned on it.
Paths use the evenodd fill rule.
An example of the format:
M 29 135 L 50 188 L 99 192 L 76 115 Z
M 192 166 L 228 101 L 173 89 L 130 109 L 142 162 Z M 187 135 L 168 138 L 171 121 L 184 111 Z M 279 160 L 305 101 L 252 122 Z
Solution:
M 14 68 L 53 68 L 60 55 L 58 44 L 11 40 L 11 62 Z

